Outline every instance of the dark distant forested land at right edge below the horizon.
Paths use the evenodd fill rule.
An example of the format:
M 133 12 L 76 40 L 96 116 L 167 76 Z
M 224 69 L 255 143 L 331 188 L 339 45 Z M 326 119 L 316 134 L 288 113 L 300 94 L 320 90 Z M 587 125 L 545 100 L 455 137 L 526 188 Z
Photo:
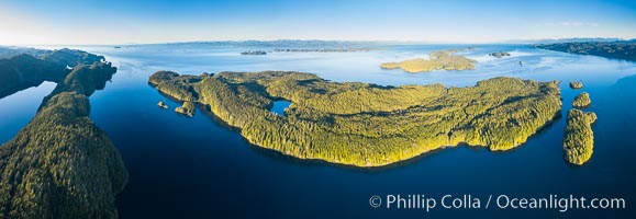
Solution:
M 534 47 L 569 54 L 593 55 L 636 61 L 636 42 L 634 41 L 537 44 L 534 45 Z

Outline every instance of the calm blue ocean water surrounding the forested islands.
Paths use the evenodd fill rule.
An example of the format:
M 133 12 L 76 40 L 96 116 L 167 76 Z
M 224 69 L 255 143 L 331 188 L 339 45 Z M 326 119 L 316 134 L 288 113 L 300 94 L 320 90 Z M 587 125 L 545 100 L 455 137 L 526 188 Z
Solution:
M 437 49 L 467 45 L 394 45 L 358 53 L 270 53 L 271 48 L 210 47 L 199 44 L 74 47 L 104 55 L 118 67 L 107 89 L 91 97 L 91 118 L 121 152 L 130 182 L 116 200 L 121 218 L 573 218 L 634 215 L 636 199 L 636 64 L 593 56 L 547 51 L 524 45 L 472 45 L 462 55 L 478 60 L 476 70 L 406 73 L 382 70 L 381 62 L 427 57 Z M 509 51 L 495 58 L 488 53 Z M 520 61 L 522 65 L 520 65 Z M 252 146 L 236 130 L 198 110 L 188 118 L 171 111 L 180 105 L 147 84 L 157 70 L 199 74 L 219 71 L 297 70 L 333 81 L 382 85 L 466 87 L 492 77 L 559 80 L 564 116 L 573 97 L 590 93 L 599 120 L 591 161 L 572 166 L 562 159 L 565 117 L 506 152 L 455 147 L 377 169 L 305 161 Z M 568 82 L 582 80 L 573 91 Z M 41 88 L 43 87 L 43 88 Z M 9 140 L 34 115 L 53 85 L 0 100 L 2 135 Z M 51 88 L 49 88 L 51 87 Z M 26 93 L 29 95 L 22 95 Z M 14 97 L 22 95 L 21 97 Z M 170 110 L 156 103 L 166 100 Z M 20 111 L 5 110 L 20 108 Z M 11 123 L 4 123 L 7 119 Z M 422 194 L 487 198 L 621 197 L 627 209 L 423 209 L 372 208 L 373 195 Z M 486 205 L 482 203 L 482 205 Z M 482 206 L 483 207 L 483 206 Z

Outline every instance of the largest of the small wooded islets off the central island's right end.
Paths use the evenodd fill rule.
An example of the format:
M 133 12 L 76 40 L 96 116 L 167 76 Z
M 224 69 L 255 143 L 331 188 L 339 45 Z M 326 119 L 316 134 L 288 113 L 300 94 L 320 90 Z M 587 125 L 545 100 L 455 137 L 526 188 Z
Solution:
M 564 132 L 565 159 L 572 164 L 582 165 L 592 158 L 594 132 L 592 124 L 596 114 L 583 113 L 572 108 L 568 113 L 567 126 Z

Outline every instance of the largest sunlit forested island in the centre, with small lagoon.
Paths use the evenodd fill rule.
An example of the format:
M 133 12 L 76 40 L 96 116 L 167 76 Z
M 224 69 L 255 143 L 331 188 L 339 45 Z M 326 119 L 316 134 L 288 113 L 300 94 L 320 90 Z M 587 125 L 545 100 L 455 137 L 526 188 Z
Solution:
M 249 142 L 300 159 L 381 166 L 447 146 L 509 150 L 560 116 L 558 82 L 494 78 L 469 88 L 331 82 L 302 72 L 154 73 L 149 84 L 194 102 Z M 292 102 L 284 116 L 270 112 Z

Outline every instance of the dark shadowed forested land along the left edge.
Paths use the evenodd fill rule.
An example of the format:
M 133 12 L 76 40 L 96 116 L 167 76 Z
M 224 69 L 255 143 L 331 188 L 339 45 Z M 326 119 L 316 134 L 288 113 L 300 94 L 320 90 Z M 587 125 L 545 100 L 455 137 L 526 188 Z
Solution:
M 116 68 L 79 50 L 43 54 L 0 60 L 2 81 L 18 83 L 3 83 L 3 91 L 57 82 L 35 117 L 0 147 L 0 218 L 116 218 L 115 195 L 127 172 L 91 122 L 88 101 Z

